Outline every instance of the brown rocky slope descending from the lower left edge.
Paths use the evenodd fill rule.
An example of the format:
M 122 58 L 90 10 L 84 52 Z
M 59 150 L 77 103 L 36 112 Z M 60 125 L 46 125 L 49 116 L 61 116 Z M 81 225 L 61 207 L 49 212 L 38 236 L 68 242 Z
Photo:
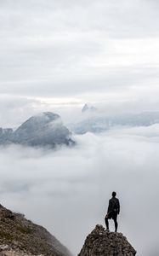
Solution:
M 42 226 L 0 205 L 0 256 L 71 256 Z

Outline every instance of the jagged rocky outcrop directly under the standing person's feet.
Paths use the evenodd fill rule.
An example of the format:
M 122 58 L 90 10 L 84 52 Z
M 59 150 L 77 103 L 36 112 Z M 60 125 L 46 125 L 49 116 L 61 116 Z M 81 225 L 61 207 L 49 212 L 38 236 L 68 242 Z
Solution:
M 108 232 L 97 225 L 88 235 L 78 256 L 133 256 L 134 248 L 122 233 Z

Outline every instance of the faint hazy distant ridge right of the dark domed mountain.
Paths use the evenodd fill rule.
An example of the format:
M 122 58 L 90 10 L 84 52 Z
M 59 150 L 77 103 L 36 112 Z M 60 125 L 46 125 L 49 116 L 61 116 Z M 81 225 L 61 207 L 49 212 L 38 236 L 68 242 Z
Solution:
M 150 126 L 159 124 L 159 112 L 127 113 L 106 116 L 105 113 L 89 113 L 82 121 L 68 125 L 77 134 L 104 132 L 114 126 Z

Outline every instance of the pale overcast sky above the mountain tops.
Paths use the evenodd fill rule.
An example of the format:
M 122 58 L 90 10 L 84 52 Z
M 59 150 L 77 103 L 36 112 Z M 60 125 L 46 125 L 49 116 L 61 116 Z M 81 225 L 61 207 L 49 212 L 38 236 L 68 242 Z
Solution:
M 0 0 L 0 102 L 19 113 L 11 125 L 64 102 L 128 98 L 156 110 L 158 8 L 156 0 Z

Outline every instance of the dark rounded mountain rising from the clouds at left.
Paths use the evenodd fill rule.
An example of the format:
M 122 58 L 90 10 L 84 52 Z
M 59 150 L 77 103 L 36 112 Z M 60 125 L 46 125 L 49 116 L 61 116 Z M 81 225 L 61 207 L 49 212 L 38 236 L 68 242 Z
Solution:
M 71 145 L 71 132 L 62 124 L 57 113 L 43 112 L 27 119 L 18 129 L 0 129 L 1 144 L 21 144 L 27 146 Z

